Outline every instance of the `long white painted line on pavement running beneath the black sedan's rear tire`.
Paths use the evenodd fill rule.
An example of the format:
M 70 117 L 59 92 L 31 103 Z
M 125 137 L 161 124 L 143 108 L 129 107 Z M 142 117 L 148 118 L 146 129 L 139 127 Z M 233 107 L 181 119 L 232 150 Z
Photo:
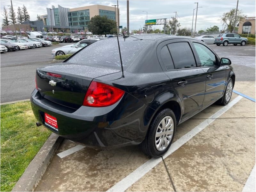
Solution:
M 197 133 L 202 131 L 205 127 L 207 127 L 209 124 L 211 124 L 215 119 L 217 119 L 219 116 L 221 116 L 223 113 L 225 113 L 228 109 L 230 109 L 233 105 L 235 105 L 239 100 L 241 100 L 242 96 L 237 96 L 234 100 L 232 100 L 228 105 L 221 108 L 219 111 L 217 111 L 215 114 L 209 117 L 209 119 L 206 119 L 201 124 L 196 126 L 194 129 L 183 135 L 180 139 L 175 141 L 169 150 L 165 153 L 163 158 L 166 158 L 167 156 L 171 155 L 174 151 L 176 151 L 178 148 L 180 148 L 183 144 L 188 142 L 191 138 L 193 138 Z M 107 190 L 107 192 L 110 191 L 125 191 L 129 187 L 132 186 L 133 183 L 138 181 L 140 178 L 142 178 L 147 172 L 149 172 L 151 169 L 153 169 L 157 164 L 159 164 L 162 161 L 162 158 L 151 158 L 146 163 L 138 167 L 135 171 L 127 175 L 124 179 L 120 180 L 116 185 L 111 187 Z

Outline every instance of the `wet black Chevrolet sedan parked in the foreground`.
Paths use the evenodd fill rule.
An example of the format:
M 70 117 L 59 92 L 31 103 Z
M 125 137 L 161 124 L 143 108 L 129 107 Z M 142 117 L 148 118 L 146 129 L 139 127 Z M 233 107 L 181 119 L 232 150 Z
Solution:
M 228 104 L 235 74 L 227 58 L 190 37 L 103 39 L 62 63 L 36 69 L 37 125 L 91 147 L 140 144 L 163 156 L 176 126 L 204 108 Z

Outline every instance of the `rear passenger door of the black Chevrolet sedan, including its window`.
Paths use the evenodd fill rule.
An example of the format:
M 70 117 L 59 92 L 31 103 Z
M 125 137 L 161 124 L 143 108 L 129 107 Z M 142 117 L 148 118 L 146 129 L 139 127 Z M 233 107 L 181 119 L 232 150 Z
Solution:
M 168 40 L 159 46 L 160 64 L 166 69 L 165 73 L 170 78 L 172 89 L 180 97 L 181 121 L 185 121 L 202 108 L 205 91 L 204 71 L 196 66 L 189 40 Z

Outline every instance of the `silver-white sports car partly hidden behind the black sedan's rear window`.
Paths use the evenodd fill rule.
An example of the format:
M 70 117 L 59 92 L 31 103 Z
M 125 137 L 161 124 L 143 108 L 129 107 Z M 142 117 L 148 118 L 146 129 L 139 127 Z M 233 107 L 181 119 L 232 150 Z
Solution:
M 58 55 L 74 54 L 78 52 L 80 49 L 82 49 L 83 47 L 86 47 L 87 45 L 99 40 L 100 39 L 84 39 L 73 45 L 65 45 L 63 47 L 57 47 L 52 50 L 52 56 L 55 57 Z

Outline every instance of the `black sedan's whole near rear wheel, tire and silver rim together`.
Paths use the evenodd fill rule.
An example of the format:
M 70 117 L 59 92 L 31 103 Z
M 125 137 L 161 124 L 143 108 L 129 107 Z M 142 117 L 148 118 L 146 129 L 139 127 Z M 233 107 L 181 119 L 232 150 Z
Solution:
M 163 123 L 167 128 L 162 129 Z M 173 111 L 170 108 L 162 109 L 152 120 L 145 140 L 140 144 L 141 150 L 151 157 L 163 156 L 172 144 L 175 129 L 176 118 Z

